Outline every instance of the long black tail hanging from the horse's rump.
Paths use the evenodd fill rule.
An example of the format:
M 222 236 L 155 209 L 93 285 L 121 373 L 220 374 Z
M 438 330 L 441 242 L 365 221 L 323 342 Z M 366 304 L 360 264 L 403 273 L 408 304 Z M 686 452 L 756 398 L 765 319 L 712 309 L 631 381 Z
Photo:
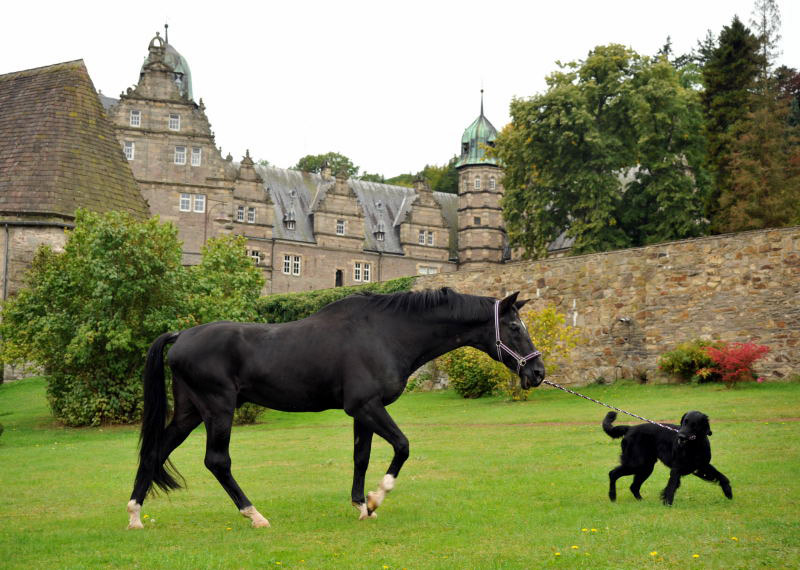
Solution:
M 144 365 L 144 411 L 139 436 L 139 470 L 136 487 L 150 489 L 154 483 L 165 492 L 180 489 L 180 478 L 172 463 L 159 459 L 167 421 L 167 393 L 164 383 L 164 347 L 172 344 L 179 333 L 164 333 L 147 351 Z M 172 471 L 170 473 L 169 471 Z M 139 485 L 143 487 L 139 487 Z

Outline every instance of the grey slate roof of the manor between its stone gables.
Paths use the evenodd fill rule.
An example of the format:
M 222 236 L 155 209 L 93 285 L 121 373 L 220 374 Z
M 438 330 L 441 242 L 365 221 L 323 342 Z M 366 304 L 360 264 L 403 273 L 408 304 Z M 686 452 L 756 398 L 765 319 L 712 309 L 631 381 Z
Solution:
M 314 208 L 335 181 L 325 180 L 316 173 L 274 166 L 256 165 L 255 169 L 264 181 L 264 190 L 275 204 L 273 236 L 277 239 L 314 243 Z M 355 178 L 347 183 L 353 189 L 364 214 L 364 249 L 402 254 L 400 224 L 405 221 L 411 209 L 415 197 L 414 189 Z M 434 192 L 433 197 L 442 207 L 442 215 L 450 232 L 450 257 L 455 258 L 458 253 L 458 196 Z M 289 230 L 284 219 L 292 214 L 295 229 Z M 381 222 L 385 233 L 384 241 L 375 238 Z

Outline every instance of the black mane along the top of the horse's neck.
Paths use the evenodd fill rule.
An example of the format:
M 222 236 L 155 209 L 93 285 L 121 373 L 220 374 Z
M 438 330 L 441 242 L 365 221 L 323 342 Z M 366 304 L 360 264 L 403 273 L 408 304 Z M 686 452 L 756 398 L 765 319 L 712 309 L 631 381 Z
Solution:
M 361 298 L 370 306 L 383 311 L 430 313 L 446 307 L 448 316 L 464 321 L 483 321 L 492 316 L 492 299 L 458 293 L 449 287 L 423 291 L 400 291 L 379 294 L 369 291 L 355 293 L 348 299 Z

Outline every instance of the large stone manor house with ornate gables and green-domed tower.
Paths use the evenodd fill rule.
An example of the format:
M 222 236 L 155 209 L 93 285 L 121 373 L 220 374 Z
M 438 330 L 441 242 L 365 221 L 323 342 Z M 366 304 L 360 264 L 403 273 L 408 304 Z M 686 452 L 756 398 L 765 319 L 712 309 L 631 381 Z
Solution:
M 100 94 L 150 213 L 171 221 L 184 263 L 206 239 L 245 236 L 265 293 L 480 268 L 510 257 L 501 216 L 502 169 L 485 154 L 497 131 L 483 115 L 461 139 L 459 193 L 238 162 L 216 147 L 186 59 L 159 34 L 138 83 Z

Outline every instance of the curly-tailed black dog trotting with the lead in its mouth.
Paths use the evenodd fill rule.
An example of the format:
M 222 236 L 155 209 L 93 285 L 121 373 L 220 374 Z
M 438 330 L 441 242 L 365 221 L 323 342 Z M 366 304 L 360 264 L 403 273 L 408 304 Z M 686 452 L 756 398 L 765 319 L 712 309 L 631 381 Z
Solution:
M 650 477 L 658 459 L 670 468 L 669 482 L 661 491 L 661 500 L 665 505 L 672 504 L 675 491 L 680 487 L 681 477 L 690 473 L 704 481 L 716 481 L 725 496 L 733 498 L 730 481 L 711 465 L 711 444 L 708 441 L 711 428 L 707 415 L 687 412 L 681 418 L 680 426 L 666 424 L 678 430 L 677 433 L 654 424 L 611 425 L 616 418 L 616 412 L 608 412 L 603 420 L 603 430 L 608 435 L 613 438 L 622 437 L 620 465 L 608 472 L 609 499 L 617 499 L 617 479 L 633 475 L 631 493 L 641 500 L 639 489 Z

